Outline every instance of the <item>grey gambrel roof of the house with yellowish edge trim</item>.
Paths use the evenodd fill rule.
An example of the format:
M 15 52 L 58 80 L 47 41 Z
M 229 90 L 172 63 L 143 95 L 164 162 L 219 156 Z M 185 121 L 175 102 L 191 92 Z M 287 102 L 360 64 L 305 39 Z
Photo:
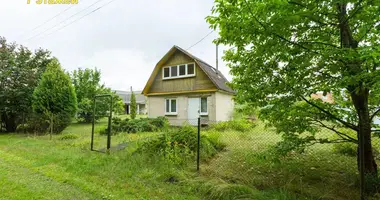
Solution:
M 217 70 L 216 68 L 212 67 L 211 65 L 207 64 L 205 61 L 199 59 L 198 57 L 192 55 L 188 51 L 182 49 L 179 46 L 173 46 L 168 53 L 165 54 L 165 56 L 157 63 L 156 67 L 154 68 L 147 84 L 145 85 L 144 90 L 142 91 L 143 94 L 147 94 L 151 84 L 153 84 L 154 78 L 158 73 L 158 66 L 160 64 L 165 63 L 176 51 L 180 51 L 184 53 L 185 55 L 189 56 L 191 59 L 194 59 L 194 61 L 198 64 L 198 66 L 202 69 L 203 72 L 208 76 L 208 78 L 214 83 L 214 85 L 217 87 L 218 90 L 222 90 L 227 93 L 235 94 L 235 91 L 232 90 L 228 85 L 228 80 L 226 77 Z

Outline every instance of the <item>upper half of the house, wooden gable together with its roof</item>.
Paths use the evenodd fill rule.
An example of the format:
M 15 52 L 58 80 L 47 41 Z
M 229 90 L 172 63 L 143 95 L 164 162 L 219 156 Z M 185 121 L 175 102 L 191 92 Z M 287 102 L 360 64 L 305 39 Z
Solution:
M 163 68 L 169 69 L 171 66 L 182 64 L 194 64 L 195 76 L 186 72 L 186 75 L 180 77 L 170 77 L 170 72 L 167 70 L 166 73 L 168 74 L 165 75 L 166 78 L 163 78 Z M 172 68 L 170 68 L 171 70 Z M 223 91 L 230 95 L 235 94 L 235 91 L 228 86 L 227 79 L 218 69 L 213 68 L 186 50 L 173 46 L 157 63 L 142 93 L 151 96 L 215 91 Z

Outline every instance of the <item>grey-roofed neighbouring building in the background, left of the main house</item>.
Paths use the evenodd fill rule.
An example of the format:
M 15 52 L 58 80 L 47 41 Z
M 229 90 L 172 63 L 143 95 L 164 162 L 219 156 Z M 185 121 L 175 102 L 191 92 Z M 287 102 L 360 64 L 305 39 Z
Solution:
M 115 90 L 115 93 L 120 96 L 120 98 L 123 100 L 124 103 L 124 109 L 125 109 L 125 114 L 130 114 L 130 105 L 131 105 L 131 92 L 128 91 L 121 91 L 121 90 Z M 134 91 L 136 96 L 136 113 L 140 115 L 145 115 L 147 114 L 146 110 L 146 102 L 147 99 L 144 95 L 141 94 L 141 91 Z

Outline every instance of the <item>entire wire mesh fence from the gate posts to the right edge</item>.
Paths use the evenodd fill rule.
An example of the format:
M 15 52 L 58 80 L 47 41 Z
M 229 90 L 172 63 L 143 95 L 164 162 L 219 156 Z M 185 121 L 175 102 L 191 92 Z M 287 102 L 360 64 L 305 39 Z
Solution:
M 341 129 L 342 135 L 322 128 L 313 133 L 283 135 L 259 120 L 168 120 L 168 129 L 140 131 L 133 137 L 124 134 L 125 138 L 119 136 L 109 149 L 100 151 L 133 146 L 133 150 L 154 152 L 163 142 L 162 154 L 152 156 L 187 157 L 201 177 L 260 190 L 280 189 L 311 199 L 365 199 L 376 196 L 380 189 L 378 179 L 363 177 L 361 185 L 359 141 L 353 131 Z M 372 136 L 372 148 L 379 162 L 380 139 L 376 135 Z M 108 142 L 103 139 L 103 143 Z M 144 145 L 146 148 L 141 148 Z

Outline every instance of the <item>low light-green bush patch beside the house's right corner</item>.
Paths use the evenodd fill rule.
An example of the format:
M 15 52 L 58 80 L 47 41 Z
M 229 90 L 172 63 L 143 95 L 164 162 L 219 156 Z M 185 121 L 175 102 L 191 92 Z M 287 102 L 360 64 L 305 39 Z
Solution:
M 253 127 L 254 127 L 254 124 L 245 119 L 218 122 L 211 126 L 211 128 L 215 129 L 216 131 L 233 130 L 233 131 L 239 131 L 239 132 L 247 132 L 251 130 Z

